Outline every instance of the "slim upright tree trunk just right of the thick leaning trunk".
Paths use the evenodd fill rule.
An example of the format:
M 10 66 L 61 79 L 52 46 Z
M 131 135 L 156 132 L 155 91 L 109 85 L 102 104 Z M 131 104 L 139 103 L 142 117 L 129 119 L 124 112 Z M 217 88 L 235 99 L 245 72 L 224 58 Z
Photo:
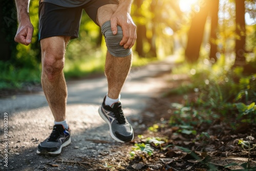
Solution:
M 219 0 L 211 0 L 210 1 L 210 15 L 211 15 L 211 30 L 210 30 L 210 60 L 212 62 L 217 61 L 216 53 L 217 53 L 217 31 L 218 31 L 218 12 L 219 12 Z

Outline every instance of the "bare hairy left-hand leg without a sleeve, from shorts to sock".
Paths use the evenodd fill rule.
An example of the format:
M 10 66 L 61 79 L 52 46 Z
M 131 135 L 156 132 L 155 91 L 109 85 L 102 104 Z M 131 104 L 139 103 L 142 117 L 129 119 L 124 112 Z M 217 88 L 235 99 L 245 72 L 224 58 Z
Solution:
M 65 49 L 70 37 L 40 40 L 42 52 L 41 84 L 55 121 L 66 119 L 67 86 L 63 75 Z

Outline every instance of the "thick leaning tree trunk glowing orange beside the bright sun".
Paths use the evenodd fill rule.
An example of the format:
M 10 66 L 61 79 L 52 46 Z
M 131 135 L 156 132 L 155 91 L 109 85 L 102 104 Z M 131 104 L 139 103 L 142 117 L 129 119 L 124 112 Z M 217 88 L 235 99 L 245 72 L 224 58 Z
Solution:
M 205 1 L 198 13 L 191 11 L 191 26 L 188 31 L 187 47 L 185 50 L 185 58 L 190 63 L 196 62 L 199 58 L 208 12 L 209 1 Z

